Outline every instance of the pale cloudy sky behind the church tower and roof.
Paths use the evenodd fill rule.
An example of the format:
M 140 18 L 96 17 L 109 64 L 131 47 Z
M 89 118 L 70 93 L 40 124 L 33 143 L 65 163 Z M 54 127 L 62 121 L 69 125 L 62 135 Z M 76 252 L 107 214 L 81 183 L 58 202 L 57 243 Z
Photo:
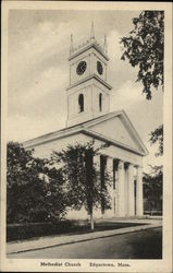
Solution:
M 121 60 L 120 39 L 133 29 L 140 11 L 10 10 L 8 29 L 8 140 L 26 141 L 65 127 L 67 115 L 70 36 L 74 45 L 107 34 L 110 109 L 124 109 L 149 150 L 144 165 L 157 165 L 149 133 L 163 122 L 163 94 L 151 100 L 136 83 L 137 68 Z

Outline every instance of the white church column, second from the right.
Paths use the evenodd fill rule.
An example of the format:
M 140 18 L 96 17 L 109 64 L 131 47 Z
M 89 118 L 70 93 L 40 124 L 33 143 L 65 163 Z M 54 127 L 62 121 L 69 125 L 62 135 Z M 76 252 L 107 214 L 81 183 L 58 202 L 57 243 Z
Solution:
M 128 165 L 127 168 L 127 183 L 128 183 L 128 194 L 127 194 L 127 215 L 135 215 L 135 195 L 134 195 L 134 166 L 132 164 Z

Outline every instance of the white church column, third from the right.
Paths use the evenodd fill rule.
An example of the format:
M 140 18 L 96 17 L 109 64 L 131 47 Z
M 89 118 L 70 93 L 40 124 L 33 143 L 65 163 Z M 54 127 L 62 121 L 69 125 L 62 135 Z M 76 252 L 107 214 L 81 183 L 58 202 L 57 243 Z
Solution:
M 125 180 L 125 170 L 124 170 L 124 162 L 120 161 L 119 162 L 119 166 L 118 166 L 118 174 L 119 174 L 119 194 L 118 194 L 118 199 L 119 199 L 119 205 L 118 205 L 118 216 L 123 217 L 124 216 L 124 206 L 125 206 L 125 202 L 124 202 L 124 180 Z

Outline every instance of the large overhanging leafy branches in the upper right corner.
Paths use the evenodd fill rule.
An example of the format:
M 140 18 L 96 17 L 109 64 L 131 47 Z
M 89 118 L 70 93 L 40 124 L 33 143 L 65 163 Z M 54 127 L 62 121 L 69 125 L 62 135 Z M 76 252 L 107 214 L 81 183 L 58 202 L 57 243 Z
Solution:
M 151 87 L 163 90 L 164 12 L 143 11 L 133 19 L 134 29 L 123 37 L 122 59 L 132 67 L 139 67 L 137 81 L 143 82 L 147 99 L 151 99 Z

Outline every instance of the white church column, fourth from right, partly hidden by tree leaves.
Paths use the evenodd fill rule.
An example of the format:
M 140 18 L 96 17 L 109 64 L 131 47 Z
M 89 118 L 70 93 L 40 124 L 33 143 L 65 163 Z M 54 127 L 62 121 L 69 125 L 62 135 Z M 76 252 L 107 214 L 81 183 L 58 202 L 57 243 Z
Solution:
M 110 203 L 111 209 L 106 210 L 106 216 L 113 217 L 114 216 L 114 190 L 113 190 L 113 158 L 107 157 L 107 171 L 109 175 L 109 186 L 108 186 L 108 192 L 110 194 Z

